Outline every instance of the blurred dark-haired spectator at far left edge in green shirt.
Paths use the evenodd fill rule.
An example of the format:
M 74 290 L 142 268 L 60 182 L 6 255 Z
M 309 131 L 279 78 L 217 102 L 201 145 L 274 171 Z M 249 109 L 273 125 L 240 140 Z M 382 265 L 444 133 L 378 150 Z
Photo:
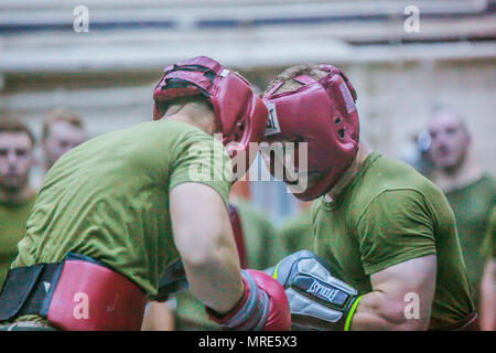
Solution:
M 33 133 L 24 124 L 0 119 L 0 288 L 36 196 L 29 184 L 33 147 Z

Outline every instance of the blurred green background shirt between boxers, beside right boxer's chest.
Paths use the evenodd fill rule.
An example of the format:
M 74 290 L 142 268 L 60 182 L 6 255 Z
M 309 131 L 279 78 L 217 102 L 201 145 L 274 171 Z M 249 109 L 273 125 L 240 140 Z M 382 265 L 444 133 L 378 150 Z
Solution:
M 301 249 L 313 250 L 312 214 L 311 208 L 300 211 L 287 221 L 278 232 L 284 256 Z

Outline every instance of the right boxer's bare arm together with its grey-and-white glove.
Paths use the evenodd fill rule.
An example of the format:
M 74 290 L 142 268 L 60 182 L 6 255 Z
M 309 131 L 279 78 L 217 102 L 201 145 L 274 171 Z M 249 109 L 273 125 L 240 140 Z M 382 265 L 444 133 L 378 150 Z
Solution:
M 300 250 L 272 270 L 284 287 L 293 325 L 320 331 L 425 330 L 434 297 L 435 255 L 385 268 L 363 296 L 334 277 L 322 257 Z

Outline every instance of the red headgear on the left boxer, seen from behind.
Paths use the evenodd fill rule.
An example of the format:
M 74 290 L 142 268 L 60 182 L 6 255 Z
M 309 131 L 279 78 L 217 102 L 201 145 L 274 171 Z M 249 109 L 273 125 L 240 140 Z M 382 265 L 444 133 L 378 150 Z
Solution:
M 263 138 L 268 117 L 266 106 L 249 83 L 206 56 L 169 65 L 163 71 L 164 75 L 153 90 L 153 119 L 162 118 L 169 103 L 175 98 L 206 97 L 217 117 L 224 146 L 233 143 L 231 158 L 239 151 L 246 152 L 245 171 L 248 171 L 251 163 L 249 143 L 258 143 Z M 234 168 L 236 171 L 236 165 Z

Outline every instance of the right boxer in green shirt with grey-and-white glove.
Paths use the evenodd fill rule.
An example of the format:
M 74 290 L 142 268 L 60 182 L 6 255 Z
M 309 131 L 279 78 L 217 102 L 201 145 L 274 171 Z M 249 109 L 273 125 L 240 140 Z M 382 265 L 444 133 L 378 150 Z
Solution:
M 359 141 L 356 93 L 344 73 L 331 65 L 289 68 L 263 100 L 266 139 L 282 146 L 279 154 L 271 146 L 266 160 L 296 197 L 317 199 L 314 252 L 328 264 L 302 253 L 276 268 L 293 323 L 472 329 L 476 313 L 453 212 L 433 183 Z

